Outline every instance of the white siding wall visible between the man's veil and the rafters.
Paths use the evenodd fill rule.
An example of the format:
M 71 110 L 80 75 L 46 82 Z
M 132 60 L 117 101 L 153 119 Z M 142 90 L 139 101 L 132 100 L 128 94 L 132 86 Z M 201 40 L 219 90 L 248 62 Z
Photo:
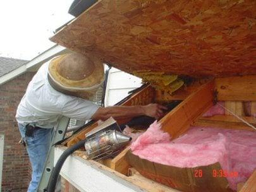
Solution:
M 114 105 L 131 90 L 140 87 L 142 80 L 116 68 L 111 68 L 107 80 L 105 106 Z

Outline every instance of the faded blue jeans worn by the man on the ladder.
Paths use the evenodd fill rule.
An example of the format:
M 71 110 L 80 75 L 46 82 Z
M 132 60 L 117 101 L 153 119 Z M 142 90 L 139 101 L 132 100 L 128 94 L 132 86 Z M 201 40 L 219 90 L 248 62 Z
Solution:
M 28 192 L 37 191 L 46 162 L 47 152 L 51 145 L 52 129 L 36 129 L 32 136 L 25 136 L 25 125 L 18 124 L 20 134 L 26 143 L 28 156 L 32 165 L 32 179 Z

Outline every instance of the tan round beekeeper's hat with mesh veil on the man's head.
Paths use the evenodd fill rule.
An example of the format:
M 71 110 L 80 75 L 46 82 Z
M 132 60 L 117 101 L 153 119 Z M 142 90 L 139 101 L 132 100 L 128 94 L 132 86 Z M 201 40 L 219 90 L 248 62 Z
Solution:
M 104 81 L 104 66 L 82 54 L 64 54 L 51 60 L 48 80 L 58 92 L 93 100 Z

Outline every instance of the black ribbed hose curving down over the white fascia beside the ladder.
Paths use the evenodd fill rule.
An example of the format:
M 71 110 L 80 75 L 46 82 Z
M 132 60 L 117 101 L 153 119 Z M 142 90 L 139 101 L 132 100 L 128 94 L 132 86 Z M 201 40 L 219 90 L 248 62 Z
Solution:
M 78 150 L 79 148 L 81 148 L 85 145 L 85 141 L 86 140 L 79 141 L 78 143 L 71 146 L 70 148 L 67 148 L 62 153 L 61 157 L 59 157 L 58 162 L 56 163 L 54 169 L 52 170 L 52 174 L 51 174 L 51 177 L 49 179 L 49 184 L 48 184 L 48 187 L 47 187 L 47 192 L 54 192 L 55 191 L 57 179 L 58 179 L 58 176 L 59 176 L 59 172 L 61 171 L 62 165 L 64 164 L 64 162 L 68 158 L 68 156 L 70 156 L 73 152 L 75 152 L 76 150 Z

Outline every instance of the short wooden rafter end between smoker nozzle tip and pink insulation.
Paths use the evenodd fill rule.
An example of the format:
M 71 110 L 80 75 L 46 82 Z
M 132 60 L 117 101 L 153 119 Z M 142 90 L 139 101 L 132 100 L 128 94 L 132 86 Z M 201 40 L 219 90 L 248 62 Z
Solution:
M 126 147 L 121 153 L 119 153 L 113 160 L 111 160 L 110 168 L 121 174 L 128 175 L 128 169 L 131 167 L 125 159 L 125 155 L 130 150 L 130 146 Z

